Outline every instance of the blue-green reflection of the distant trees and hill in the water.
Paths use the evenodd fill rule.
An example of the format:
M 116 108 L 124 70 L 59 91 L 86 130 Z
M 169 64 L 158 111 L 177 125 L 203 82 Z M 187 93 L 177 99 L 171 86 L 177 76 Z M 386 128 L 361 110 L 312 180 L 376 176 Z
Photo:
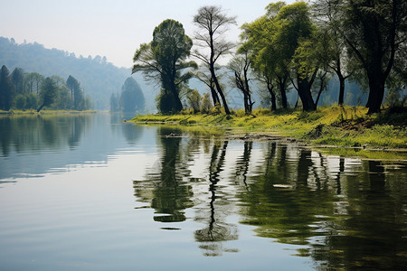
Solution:
M 106 163 L 116 149 L 137 145 L 143 132 L 108 114 L 1 116 L 0 180 L 57 173 L 67 165 Z

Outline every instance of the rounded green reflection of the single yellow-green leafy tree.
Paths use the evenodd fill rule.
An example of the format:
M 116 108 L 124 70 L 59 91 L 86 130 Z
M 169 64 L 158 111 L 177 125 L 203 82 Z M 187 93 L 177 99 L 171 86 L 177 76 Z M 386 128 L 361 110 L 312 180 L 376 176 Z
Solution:
M 286 147 L 277 152 L 277 144 L 270 144 L 265 173 L 255 176 L 250 192 L 242 195 L 249 215 L 242 223 L 260 226 L 256 229 L 260 237 L 307 245 L 308 238 L 319 228 L 316 214 L 324 216 L 332 210 L 326 203 L 330 195 L 309 186 L 309 173 L 315 166 L 310 150 L 299 150 L 297 164 L 288 162 L 286 155 Z

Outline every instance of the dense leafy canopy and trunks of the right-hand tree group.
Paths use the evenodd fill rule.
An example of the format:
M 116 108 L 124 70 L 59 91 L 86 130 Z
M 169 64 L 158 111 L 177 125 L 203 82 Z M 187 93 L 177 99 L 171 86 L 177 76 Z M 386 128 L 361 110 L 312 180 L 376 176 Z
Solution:
M 279 86 L 283 107 L 287 79 L 303 109 L 311 111 L 327 89 L 329 74 L 339 80 L 338 104 L 344 104 L 345 79 L 354 74 L 368 86 L 369 114 L 376 113 L 385 87 L 405 92 L 405 76 L 393 66 L 406 62 L 406 10 L 405 1 L 395 0 L 278 2 L 243 25 L 243 46 L 251 49 L 252 68 Z M 394 78 L 398 84 L 392 85 Z

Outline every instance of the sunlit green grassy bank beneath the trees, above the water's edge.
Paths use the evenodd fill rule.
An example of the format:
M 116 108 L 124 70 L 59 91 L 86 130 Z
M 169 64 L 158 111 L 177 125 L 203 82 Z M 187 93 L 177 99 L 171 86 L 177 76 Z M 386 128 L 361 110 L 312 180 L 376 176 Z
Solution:
M 367 116 L 365 107 L 319 107 L 315 112 L 257 109 L 251 116 L 243 110 L 222 113 L 137 116 L 138 124 L 178 126 L 211 134 L 281 135 L 313 145 L 349 147 L 407 148 L 407 113 L 402 108 Z

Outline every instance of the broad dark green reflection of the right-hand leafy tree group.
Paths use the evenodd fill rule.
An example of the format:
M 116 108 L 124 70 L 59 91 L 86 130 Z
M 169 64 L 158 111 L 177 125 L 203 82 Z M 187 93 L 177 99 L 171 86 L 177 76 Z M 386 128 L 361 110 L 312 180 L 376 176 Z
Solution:
M 323 155 L 291 151 L 297 154 L 293 163 L 286 154 L 287 148 L 270 145 L 264 173 L 248 182 L 249 192 L 241 192 L 242 223 L 257 226 L 260 237 L 305 246 L 298 256 L 313 257 L 321 269 L 406 266 L 404 182 L 392 180 L 382 162 L 364 161 L 345 173 L 345 158 L 337 158 L 330 177 Z M 405 181 L 405 167 L 397 176 Z

